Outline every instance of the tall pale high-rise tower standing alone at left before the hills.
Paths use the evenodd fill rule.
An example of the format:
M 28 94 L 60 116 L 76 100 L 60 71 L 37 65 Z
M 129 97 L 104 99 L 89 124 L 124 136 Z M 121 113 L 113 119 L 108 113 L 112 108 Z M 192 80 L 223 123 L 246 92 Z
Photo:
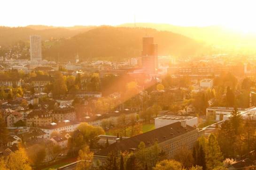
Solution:
M 42 60 L 41 36 L 30 36 L 30 59 Z

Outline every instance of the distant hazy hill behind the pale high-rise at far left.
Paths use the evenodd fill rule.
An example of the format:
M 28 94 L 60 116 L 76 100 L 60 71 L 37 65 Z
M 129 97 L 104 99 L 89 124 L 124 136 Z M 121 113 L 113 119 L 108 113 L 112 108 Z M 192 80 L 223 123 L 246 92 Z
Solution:
M 30 35 L 40 35 L 42 40 L 47 40 L 51 37 L 68 38 L 91 29 L 91 27 L 68 29 L 55 27 L 52 28 L 46 26 L 41 26 L 42 29 L 38 28 L 39 27 L 36 26 L 0 27 L 0 45 L 8 46 L 17 43 L 18 41 L 29 41 Z

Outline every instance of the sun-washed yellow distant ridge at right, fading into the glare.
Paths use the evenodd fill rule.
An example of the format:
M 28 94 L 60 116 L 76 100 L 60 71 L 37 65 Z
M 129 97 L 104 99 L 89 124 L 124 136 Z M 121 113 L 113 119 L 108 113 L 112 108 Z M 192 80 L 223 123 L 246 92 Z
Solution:
M 124 23 L 120 27 L 134 27 L 134 23 Z M 175 26 L 161 23 L 136 23 L 139 28 L 153 28 L 156 30 L 171 31 L 182 34 L 186 37 L 213 45 L 223 46 L 254 46 L 256 35 L 243 34 L 239 31 L 227 29 L 218 25 L 194 27 L 194 26 Z

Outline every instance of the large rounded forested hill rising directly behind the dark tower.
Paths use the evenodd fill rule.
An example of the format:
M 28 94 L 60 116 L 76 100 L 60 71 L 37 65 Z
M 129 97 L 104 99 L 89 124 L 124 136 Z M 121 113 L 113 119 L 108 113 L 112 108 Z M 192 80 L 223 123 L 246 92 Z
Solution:
M 137 57 L 142 50 L 142 37 L 147 36 L 154 37 L 159 55 L 191 56 L 205 50 L 195 40 L 169 31 L 102 26 L 63 39 L 43 55 L 46 59 L 56 59 L 59 55 L 61 60 L 74 60 L 77 52 L 83 60 Z

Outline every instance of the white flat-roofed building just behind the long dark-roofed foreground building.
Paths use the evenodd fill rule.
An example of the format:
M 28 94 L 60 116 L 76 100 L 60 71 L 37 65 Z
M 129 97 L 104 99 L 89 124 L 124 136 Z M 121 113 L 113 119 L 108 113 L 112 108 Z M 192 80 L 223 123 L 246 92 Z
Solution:
M 185 122 L 186 125 L 197 127 L 198 126 L 198 118 L 191 116 L 169 116 L 165 115 L 159 118 L 155 118 L 155 128 L 163 127 L 170 125 L 175 122 Z

